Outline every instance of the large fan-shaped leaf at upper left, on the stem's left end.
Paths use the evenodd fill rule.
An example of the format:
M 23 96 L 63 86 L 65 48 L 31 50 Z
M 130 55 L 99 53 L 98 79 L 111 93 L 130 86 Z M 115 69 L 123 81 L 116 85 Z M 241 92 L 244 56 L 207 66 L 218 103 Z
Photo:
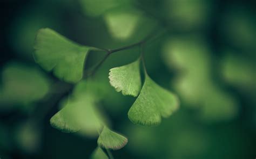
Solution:
M 90 47 L 66 39 L 50 28 L 38 31 L 34 57 L 45 70 L 66 82 L 76 83 L 83 76 L 84 61 Z

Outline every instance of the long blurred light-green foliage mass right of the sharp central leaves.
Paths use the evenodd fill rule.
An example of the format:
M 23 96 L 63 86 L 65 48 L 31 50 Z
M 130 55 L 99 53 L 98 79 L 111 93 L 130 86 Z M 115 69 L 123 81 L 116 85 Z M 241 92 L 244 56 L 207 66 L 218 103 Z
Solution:
M 163 57 L 167 66 L 180 70 L 173 85 L 188 106 L 201 107 L 204 120 L 229 120 L 237 116 L 237 101 L 212 79 L 210 50 L 203 40 L 173 38 L 166 42 Z

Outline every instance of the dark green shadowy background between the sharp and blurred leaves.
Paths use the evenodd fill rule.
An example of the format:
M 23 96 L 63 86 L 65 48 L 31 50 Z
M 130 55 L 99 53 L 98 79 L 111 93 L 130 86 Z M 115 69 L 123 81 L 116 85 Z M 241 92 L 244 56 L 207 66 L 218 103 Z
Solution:
M 149 17 L 153 17 L 154 20 L 151 23 L 140 24 L 130 38 L 119 40 L 113 38 L 107 31 L 102 17 L 86 15 L 79 1 L 2 0 L 0 2 L 2 23 L 1 71 L 11 61 L 18 61 L 31 68 L 41 69 L 33 61 L 32 45 L 36 30 L 42 27 L 50 27 L 79 44 L 112 49 L 143 39 L 150 32 L 147 30 L 151 30 L 152 25 L 157 25 L 156 34 L 164 28 L 167 29 L 167 32 L 146 45 L 147 71 L 159 85 L 173 90 L 179 96 L 179 92 L 174 89 L 175 84 L 173 86 L 171 81 L 178 76 L 180 70 L 175 67 L 170 68 L 164 62 L 161 53 L 163 52 L 163 44 L 177 35 L 199 35 L 199 37 L 203 37 L 205 44 L 210 49 L 211 80 L 237 100 L 238 115 L 225 121 L 204 121 L 200 119 L 200 109 L 193 108 L 191 106 L 193 104 L 186 103 L 181 98 L 180 109 L 170 118 L 163 119 L 160 126 L 152 128 L 134 126 L 127 118 L 127 112 L 135 98 L 124 97 L 112 88 L 109 89 L 109 98 L 103 100 L 102 107 L 111 119 L 113 129 L 126 135 L 129 139 L 126 147 L 112 151 L 113 156 L 114 158 L 175 159 L 255 158 L 255 81 L 251 85 L 245 83 L 242 86 L 228 83 L 221 76 L 220 68 L 220 62 L 226 54 L 225 48 L 234 50 L 239 56 L 245 57 L 246 63 L 252 63 L 252 66 L 255 66 L 255 1 L 204 1 L 203 7 L 207 4 L 208 13 L 204 15 L 205 12 L 199 11 L 198 16 L 203 15 L 205 19 L 199 19 L 194 26 L 190 20 L 197 13 L 187 15 L 186 11 L 189 7 L 186 7 L 193 5 L 193 3 L 201 3 L 200 1 L 184 3 L 183 12 L 188 20 L 169 19 L 164 9 L 166 7 L 164 2 L 157 0 L 138 1 L 136 7 Z M 228 14 L 238 20 L 235 23 L 230 23 L 225 19 L 226 17 L 228 19 Z M 239 18 L 239 15 L 245 18 Z M 239 21 L 239 19 L 249 19 L 252 25 L 251 30 L 246 27 L 240 28 L 243 21 Z M 91 53 L 86 62 L 86 68 L 102 59 L 103 55 L 103 53 L 98 52 Z M 96 78 L 102 79 L 107 84 L 110 68 L 132 62 L 138 56 L 139 48 L 137 47 L 111 55 L 97 72 Z M 44 72 L 42 69 L 41 71 Z M 255 79 L 255 70 L 248 74 L 247 77 Z M 51 73 L 47 76 L 51 81 L 58 81 Z M 69 84 L 62 84 L 70 86 Z M 3 85 L 2 82 L 1 85 Z M 203 84 L 202 87 L 201 89 L 208 89 L 204 88 Z M 34 116 L 18 109 L 0 110 L 0 158 L 89 158 L 92 151 L 97 147 L 97 139 L 81 137 L 76 134 L 65 134 L 52 128 L 49 124 L 52 115 L 58 111 L 57 103 L 69 93 L 71 91 L 64 93 L 61 97 L 52 97 L 50 101 L 53 101 L 53 106 L 50 106 L 49 109 L 47 108 L 50 105 L 48 102 L 33 103 L 33 106 L 36 107 L 32 112 Z M 43 114 L 42 121 L 38 119 L 36 132 L 32 132 L 33 135 L 35 135 L 34 133 L 40 134 L 38 141 L 35 141 L 38 148 L 31 150 L 26 146 L 19 145 L 14 135 L 16 128 L 28 121 L 31 116 L 41 117 L 41 112 L 44 109 L 49 111 Z M 28 134 L 28 138 L 30 135 Z

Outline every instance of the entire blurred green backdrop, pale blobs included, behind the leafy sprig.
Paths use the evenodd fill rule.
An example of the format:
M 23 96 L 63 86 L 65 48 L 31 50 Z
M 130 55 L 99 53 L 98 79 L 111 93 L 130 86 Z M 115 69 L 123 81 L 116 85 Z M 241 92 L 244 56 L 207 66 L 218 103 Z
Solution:
M 78 107 L 85 110 L 88 92 L 76 94 L 85 90 L 94 95 L 93 106 L 106 125 L 129 138 L 123 149 L 112 151 L 114 158 L 255 158 L 254 1 L 2 3 L 0 158 L 107 158 L 106 151 L 97 147 L 97 138 L 86 138 L 89 134 L 81 131 L 62 133 L 49 124 L 52 115 L 70 102 L 77 104 L 79 99 L 83 106 Z M 45 76 L 32 63 L 35 35 L 45 27 L 78 44 L 106 49 L 138 42 L 152 32 L 158 35 L 145 44 L 147 73 L 158 85 L 178 94 L 180 109 L 157 127 L 133 125 L 127 118 L 136 98 L 114 90 L 107 77 L 111 68 L 138 59 L 138 47 L 111 54 L 93 82 L 81 81 L 79 85 L 84 86 L 62 93 L 73 85 L 59 83 L 51 73 Z M 91 51 L 85 71 L 103 56 Z M 144 78 L 142 74 L 142 85 Z M 58 83 L 56 89 L 51 80 Z M 79 109 L 73 119 L 84 124 L 82 113 Z

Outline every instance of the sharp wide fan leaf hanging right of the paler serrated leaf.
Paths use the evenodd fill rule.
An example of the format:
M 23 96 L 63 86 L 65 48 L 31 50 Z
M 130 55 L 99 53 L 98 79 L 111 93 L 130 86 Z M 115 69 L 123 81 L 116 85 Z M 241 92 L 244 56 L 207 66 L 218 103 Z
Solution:
M 167 118 L 179 107 L 179 100 L 173 93 L 161 88 L 147 74 L 139 97 L 128 112 L 133 124 L 154 126 Z

